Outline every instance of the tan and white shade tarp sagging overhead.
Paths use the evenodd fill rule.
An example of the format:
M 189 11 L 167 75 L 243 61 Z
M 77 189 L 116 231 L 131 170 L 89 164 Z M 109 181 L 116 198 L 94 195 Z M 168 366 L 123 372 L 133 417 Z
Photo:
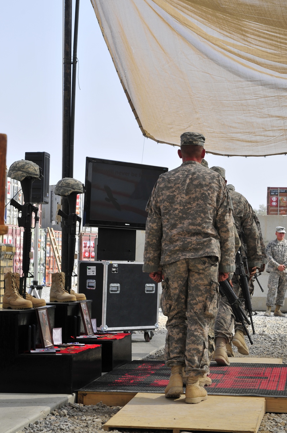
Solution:
M 284 0 L 91 0 L 144 135 L 208 152 L 287 152 Z

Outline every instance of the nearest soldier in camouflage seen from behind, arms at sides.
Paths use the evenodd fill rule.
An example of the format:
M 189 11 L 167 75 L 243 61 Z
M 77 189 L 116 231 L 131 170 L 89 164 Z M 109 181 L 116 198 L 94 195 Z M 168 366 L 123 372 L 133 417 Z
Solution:
M 165 358 L 171 367 L 166 397 L 183 394 L 184 366 L 185 402 L 199 403 L 207 399 L 218 280 L 235 271 L 235 243 L 225 183 L 201 165 L 204 136 L 185 132 L 180 138 L 182 165 L 159 176 L 147 204 L 143 271 L 156 283 L 163 280 Z

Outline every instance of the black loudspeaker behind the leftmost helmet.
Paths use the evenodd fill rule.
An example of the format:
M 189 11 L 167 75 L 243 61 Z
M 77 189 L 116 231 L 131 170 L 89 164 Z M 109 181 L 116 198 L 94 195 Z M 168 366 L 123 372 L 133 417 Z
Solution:
M 43 170 L 43 178 L 32 184 L 32 203 L 49 203 L 50 154 L 47 152 L 26 152 L 25 159 L 35 162 Z

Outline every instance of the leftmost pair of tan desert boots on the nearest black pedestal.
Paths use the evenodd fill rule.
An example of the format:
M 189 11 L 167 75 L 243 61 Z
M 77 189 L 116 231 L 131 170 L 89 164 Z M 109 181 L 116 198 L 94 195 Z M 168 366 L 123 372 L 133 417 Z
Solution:
M 20 275 L 18 272 L 7 272 L 4 274 L 5 292 L 3 295 L 3 308 L 22 310 L 25 308 L 44 307 L 44 299 L 38 299 L 26 293 L 26 299 L 19 293 Z

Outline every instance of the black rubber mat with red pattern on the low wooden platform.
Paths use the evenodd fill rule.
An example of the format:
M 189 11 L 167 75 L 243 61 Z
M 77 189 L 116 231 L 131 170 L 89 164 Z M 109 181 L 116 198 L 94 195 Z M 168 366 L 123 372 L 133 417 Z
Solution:
M 80 391 L 159 392 L 169 381 L 163 361 L 132 361 L 92 381 Z M 208 394 L 287 397 L 287 365 L 232 363 L 210 365 Z

